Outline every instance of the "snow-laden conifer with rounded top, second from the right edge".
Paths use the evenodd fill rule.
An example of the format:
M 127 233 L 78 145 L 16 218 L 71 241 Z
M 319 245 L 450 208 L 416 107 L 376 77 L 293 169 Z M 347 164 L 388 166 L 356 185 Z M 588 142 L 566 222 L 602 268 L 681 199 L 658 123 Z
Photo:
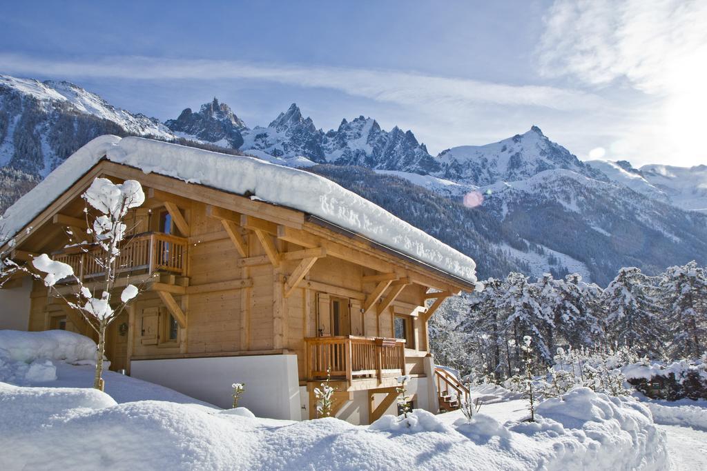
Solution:
M 635 267 L 621 268 L 604 290 L 607 333 L 639 354 L 662 353 L 663 325 L 652 280 Z

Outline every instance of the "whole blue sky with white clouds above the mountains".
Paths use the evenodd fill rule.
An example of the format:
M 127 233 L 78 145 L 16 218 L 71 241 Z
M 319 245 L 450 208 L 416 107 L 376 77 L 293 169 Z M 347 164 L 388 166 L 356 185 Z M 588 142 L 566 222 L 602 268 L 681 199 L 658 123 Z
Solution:
M 0 73 L 160 119 L 216 96 L 267 125 L 297 102 L 325 130 L 363 114 L 431 153 L 536 124 L 580 158 L 707 163 L 702 2 L 19 3 Z

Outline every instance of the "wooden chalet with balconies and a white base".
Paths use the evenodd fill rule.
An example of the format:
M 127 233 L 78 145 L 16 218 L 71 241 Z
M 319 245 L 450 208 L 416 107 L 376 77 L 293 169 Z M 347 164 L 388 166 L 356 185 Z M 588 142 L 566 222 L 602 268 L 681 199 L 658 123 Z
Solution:
M 110 145 L 122 145 L 109 137 Z M 83 159 L 81 173 L 66 189 L 36 208 L 40 212 L 31 220 L 16 224 L 21 229 L 12 252 L 16 261 L 50 254 L 90 284 L 100 277 L 100 267 L 81 249 L 66 247 L 67 227 L 86 232 L 81 193 L 96 177 L 142 184 L 146 201 L 127 217 L 131 233 L 122 247 L 117 285 L 132 283 L 144 291 L 110 326 L 110 369 L 222 407 L 230 405 L 230 384 L 245 383 L 242 405 L 283 419 L 315 417 L 313 388 L 327 371 L 337 387 L 337 416 L 354 423 L 395 413 L 402 374 L 411 376 L 414 407 L 437 412 L 442 396 L 448 409 L 454 405 L 450 393 L 464 393 L 452 375 L 436 371 L 427 323 L 447 297 L 473 290 L 473 279 L 319 215 L 261 201 L 257 191 L 235 194 L 187 183 L 178 168 L 174 174 L 146 173 L 135 162 L 152 150 L 194 153 L 195 159 L 205 152 L 122 141 L 144 141 L 132 151 L 137 160 L 116 162 L 99 155 L 103 150 L 90 164 Z M 95 145 L 89 150 L 95 153 Z M 218 158 L 232 160 L 233 172 L 240 160 L 252 164 L 246 157 Z M 59 167 L 64 174 L 72 170 L 72 159 L 64 164 L 68 170 Z M 71 282 L 59 287 L 66 293 L 75 289 Z M 1 305 L 12 306 L 2 316 L 26 317 L 28 330 L 93 335 L 78 313 L 30 278 L 8 282 L 0 292 L 0 311 Z

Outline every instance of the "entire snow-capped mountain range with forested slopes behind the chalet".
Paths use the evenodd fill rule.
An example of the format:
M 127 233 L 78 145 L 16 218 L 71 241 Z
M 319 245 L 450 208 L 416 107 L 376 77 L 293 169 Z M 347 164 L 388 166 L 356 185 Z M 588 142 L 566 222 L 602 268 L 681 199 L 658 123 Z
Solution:
M 214 99 L 165 125 L 66 82 L 0 76 L 0 209 L 100 134 L 186 138 L 312 172 L 361 194 L 478 262 L 479 275 L 707 263 L 707 167 L 580 162 L 533 126 L 498 143 L 430 155 L 411 131 L 344 119 L 326 133 L 291 105 L 249 127 Z M 321 164 L 321 165 L 317 165 Z M 677 208 L 676 208 L 677 207 Z

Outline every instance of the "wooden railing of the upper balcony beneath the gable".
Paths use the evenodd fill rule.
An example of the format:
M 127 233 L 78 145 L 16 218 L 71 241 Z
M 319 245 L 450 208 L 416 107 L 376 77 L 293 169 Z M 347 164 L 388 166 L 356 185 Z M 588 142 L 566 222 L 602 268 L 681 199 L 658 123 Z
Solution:
M 105 273 L 100 265 L 100 247 L 71 247 L 56 252 L 52 258 L 74 268 L 81 280 Z M 147 273 L 166 271 L 186 275 L 187 239 L 161 232 L 146 232 L 129 237 L 120 247 L 116 265 L 117 273 L 146 270 Z

